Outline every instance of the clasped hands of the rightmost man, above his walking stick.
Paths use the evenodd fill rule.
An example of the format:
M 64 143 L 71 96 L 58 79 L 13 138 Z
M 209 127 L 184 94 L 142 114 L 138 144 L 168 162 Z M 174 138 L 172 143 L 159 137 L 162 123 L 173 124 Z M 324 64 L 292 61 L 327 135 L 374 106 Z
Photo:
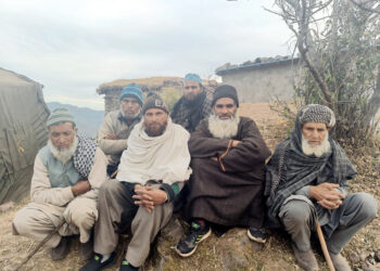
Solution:
M 311 186 L 311 198 L 317 201 L 317 203 L 326 209 L 337 209 L 342 205 L 344 194 L 339 192 L 337 183 L 320 183 L 318 185 Z

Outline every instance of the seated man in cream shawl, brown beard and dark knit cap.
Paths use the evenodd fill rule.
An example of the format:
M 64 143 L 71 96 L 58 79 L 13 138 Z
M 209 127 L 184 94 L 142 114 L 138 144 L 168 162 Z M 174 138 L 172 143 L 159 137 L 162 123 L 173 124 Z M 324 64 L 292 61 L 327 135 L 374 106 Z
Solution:
M 173 199 L 191 173 L 189 132 L 173 124 L 164 101 L 147 98 L 143 121 L 128 138 L 116 180 L 99 192 L 99 220 L 94 230 L 96 256 L 80 270 L 101 270 L 115 260 L 118 234 L 131 232 L 119 270 L 138 270 L 150 245 L 169 221 Z

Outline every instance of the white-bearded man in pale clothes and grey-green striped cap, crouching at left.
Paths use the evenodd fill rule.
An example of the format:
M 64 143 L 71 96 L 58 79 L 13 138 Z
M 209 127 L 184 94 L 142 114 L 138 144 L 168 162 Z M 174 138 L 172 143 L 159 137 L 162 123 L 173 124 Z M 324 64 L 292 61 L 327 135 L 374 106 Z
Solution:
M 69 235 L 79 234 L 80 258 L 92 255 L 91 230 L 98 219 L 98 189 L 106 180 L 104 153 L 94 140 L 77 136 L 73 115 L 56 108 L 47 121 L 49 141 L 35 159 L 31 203 L 16 212 L 13 234 L 42 241 L 65 220 L 47 242 L 53 260 L 69 249 Z

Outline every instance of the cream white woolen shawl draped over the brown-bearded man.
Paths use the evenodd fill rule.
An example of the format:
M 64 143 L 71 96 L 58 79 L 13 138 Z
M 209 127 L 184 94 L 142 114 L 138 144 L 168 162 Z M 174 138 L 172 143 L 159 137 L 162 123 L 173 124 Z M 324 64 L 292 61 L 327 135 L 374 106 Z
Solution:
M 162 180 L 173 184 L 188 180 L 191 175 L 188 140 L 190 134 L 168 118 L 165 132 L 149 137 L 143 120 L 135 126 L 128 138 L 128 149 L 123 152 L 116 179 L 145 184 Z

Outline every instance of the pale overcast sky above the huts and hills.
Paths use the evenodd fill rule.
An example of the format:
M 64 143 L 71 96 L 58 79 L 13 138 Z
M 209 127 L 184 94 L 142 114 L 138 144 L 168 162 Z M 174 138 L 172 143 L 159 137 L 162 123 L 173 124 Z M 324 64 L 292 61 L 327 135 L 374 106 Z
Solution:
M 48 102 L 103 109 L 115 79 L 203 78 L 230 62 L 291 53 L 271 0 L 0 0 L 0 67 L 45 86 Z

